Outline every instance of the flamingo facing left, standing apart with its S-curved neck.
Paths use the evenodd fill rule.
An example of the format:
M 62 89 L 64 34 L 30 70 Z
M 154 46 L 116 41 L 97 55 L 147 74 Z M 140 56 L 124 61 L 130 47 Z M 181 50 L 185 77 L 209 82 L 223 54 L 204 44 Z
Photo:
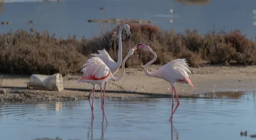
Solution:
M 171 84 L 171 86 L 172 86 L 172 116 L 173 116 L 175 110 L 180 105 L 180 101 L 179 101 L 178 95 L 177 95 L 175 87 L 174 87 L 175 84 L 176 83 L 186 83 L 186 84 L 191 85 L 192 88 L 195 89 L 194 85 L 192 84 L 191 80 L 189 79 L 188 73 L 191 73 L 191 71 L 189 70 L 189 66 L 188 66 L 186 59 L 183 58 L 183 59 L 172 60 L 171 62 L 166 63 L 165 65 L 161 66 L 157 71 L 151 73 L 151 72 L 148 72 L 148 66 L 157 60 L 157 54 L 149 46 L 142 44 L 142 43 L 138 44 L 137 46 L 134 46 L 134 50 L 136 50 L 137 48 L 142 48 L 145 51 L 149 51 L 149 52 L 151 52 L 151 54 L 154 55 L 154 58 L 151 61 L 149 61 L 148 63 L 146 63 L 144 66 L 145 74 L 150 77 L 157 77 L 157 78 L 164 79 Z M 174 107 L 173 91 L 175 92 L 175 96 L 177 99 L 177 106 L 175 107 L 174 111 L 173 111 L 173 107 Z M 170 117 L 169 121 L 171 121 L 172 116 Z

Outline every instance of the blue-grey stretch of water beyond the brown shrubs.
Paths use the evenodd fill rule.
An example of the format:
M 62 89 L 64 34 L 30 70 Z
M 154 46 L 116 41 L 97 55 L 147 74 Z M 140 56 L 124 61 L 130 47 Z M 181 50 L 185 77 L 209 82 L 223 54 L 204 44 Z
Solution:
M 176 32 L 184 32 L 186 28 L 199 29 L 200 34 L 213 29 L 241 29 L 250 38 L 254 38 L 256 32 L 256 14 L 253 14 L 256 0 L 181 0 L 209 2 L 204 5 L 183 5 L 174 0 L 39 1 L 43 0 L 6 0 L 0 9 L 0 22 L 9 21 L 11 24 L 0 25 L 1 33 L 11 28 L 34 28 L 37 31 L 48 30 L 51 34 L 55 33 L 55 37 L 65 38 L 70 33 L 76 34 L 79 39 L 83 35 L 90 38 L 100 33 L 102 24 L 88 23 L 87 20 L 111 18 L 152 20 L 153 25 L 167 30 L 173 28 Z M 100 7 L 106 9 L 99 10 Z M 27 24 L 29 20 L 34 23 Z

